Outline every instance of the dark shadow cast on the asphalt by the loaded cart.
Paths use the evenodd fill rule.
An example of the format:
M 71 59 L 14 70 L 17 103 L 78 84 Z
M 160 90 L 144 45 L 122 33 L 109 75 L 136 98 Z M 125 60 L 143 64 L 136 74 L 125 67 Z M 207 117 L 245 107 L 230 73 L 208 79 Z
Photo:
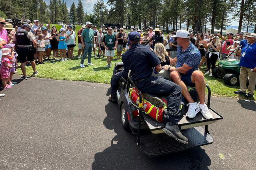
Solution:
M 106 95 L 109 94 L 110 88 Z M 116 136 L 110 147 L 94 155 L 92 169 L 208 169 L 211 159 L 200 147 L 164 156 L 148 157 L 136 145 L 136 135 L 125 131 L 121 124 L 120 109 L 116 103 L 105 106 L 103 124 L 114 130 Z

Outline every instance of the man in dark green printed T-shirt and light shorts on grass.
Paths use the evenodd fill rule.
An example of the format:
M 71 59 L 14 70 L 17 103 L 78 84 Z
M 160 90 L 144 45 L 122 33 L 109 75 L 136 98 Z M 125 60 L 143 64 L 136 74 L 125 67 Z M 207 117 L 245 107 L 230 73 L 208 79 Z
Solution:
M 117 45 L 116 35 L 112 33 L 111 27 L 108 27 L 108 34 L 104 36 L 102 43 L 105 48 L 105 55 L 107 57 L 107 62 L 108 62 L 106 67 L 110 67 L 111 61 L 115 55 L 115 49 Z

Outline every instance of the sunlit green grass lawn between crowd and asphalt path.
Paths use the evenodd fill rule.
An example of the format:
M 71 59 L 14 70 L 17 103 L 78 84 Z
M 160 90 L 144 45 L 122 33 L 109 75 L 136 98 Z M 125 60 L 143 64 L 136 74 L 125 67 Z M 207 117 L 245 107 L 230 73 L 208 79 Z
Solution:
M 60 30 L 61 26 L 54 24 L 57 30 Z M 76 26 L 76 35 L 77 31 L 81 26 Z M 78 40 L 76 40 L 78 42 Z M 68 61 L 50 61 L 45 62 L 45 64 L 39 64 L 36 66 L 36 69 L 39 71 L 39 74 L 36 77 L 40 78 L 51 78 L 55 80 L 74 80 L 74 81 L 86 81 L 86 82 L 97 82 L 97 83 L 106 83 L 110 84 L 110 79 L 113 73 L 113 66 L 116 62 L 122 62 L 121 59 L 117 60 L 116 55 L 112 61 L 111 68 L 105 68 L 107 61 L 106 57 L 104 59 L 92 57 L 92 63 L 95 66 L 88 66 L 87 58 L 84 61 L 85 68 L 80 67 L 80 59 L 77 59 L 78 54 L 78 45 L 74 48 L 75 60 Z M 96 55 L 98 51 L 96 50 Z M 92 52 L 92 56 L 94 53 Z M 202 70 L 205 70 L 206 66 L 202 65 Z M 27 75 L 32 75 L 32 67 L 26 67 Z M 18 74 L 22 74 L 20 68 L 18 68 Z M 208 75 L 205 75 L 206 84 L 208 84 L 212 91 L 212 96 L 221 96 L 221 97 L 232 97 L 232 98 L 244 98 L 242 95 L 238 96 L 234 94 L 234 90 L 238 90 L 239 86 L 228 86 L 224 83 L 223 78 L 214 78 Z M 256 90 L 254 90 L 254 99 L 256 99 Z

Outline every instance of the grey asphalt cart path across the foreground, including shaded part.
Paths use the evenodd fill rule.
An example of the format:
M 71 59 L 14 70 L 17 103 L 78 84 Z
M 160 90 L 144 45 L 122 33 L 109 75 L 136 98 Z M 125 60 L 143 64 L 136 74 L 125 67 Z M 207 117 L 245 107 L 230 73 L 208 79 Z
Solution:
M 148 157 L 122 128 L 110 85 L 28 78 L 0 98 L 0 169 L 255 169 L 256 103 L 212 97 L 214 143 Z M 2 91 L 1 91 L 2 90 Z

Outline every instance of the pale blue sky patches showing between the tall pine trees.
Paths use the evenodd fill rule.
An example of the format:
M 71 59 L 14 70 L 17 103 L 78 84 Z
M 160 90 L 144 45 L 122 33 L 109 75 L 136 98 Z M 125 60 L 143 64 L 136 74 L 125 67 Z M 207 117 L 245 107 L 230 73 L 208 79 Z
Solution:
M 105 3 L 108 0 L 103 0 Z M 45 0 L 45 2 L 47 4 L 49 4 L 50 0 Z M 77 6 L 78 0 L 64 0 L 64 2 L 66 2 L 68 9 L 70 9 L 70 6 L 72 5 L 72 3 L 74 2 Z M 84 11 L 88 12 L 88 13 L 92 13 L 92 9 L 94 4 L 97 2 L 97 0 L 82 0 L 83 6 L 84 6 Z M 107 5 L 107 4 L 106 4 Z M 109 9 L 110 6 L 107 5 L 107 8 Z M 231 17 L 230 17 L 231 18 Z M 231 20 L 231 19 L 230 19 Z M 238 26 L 238 21 L 232 20 L 231 25 L 230 26 Z

